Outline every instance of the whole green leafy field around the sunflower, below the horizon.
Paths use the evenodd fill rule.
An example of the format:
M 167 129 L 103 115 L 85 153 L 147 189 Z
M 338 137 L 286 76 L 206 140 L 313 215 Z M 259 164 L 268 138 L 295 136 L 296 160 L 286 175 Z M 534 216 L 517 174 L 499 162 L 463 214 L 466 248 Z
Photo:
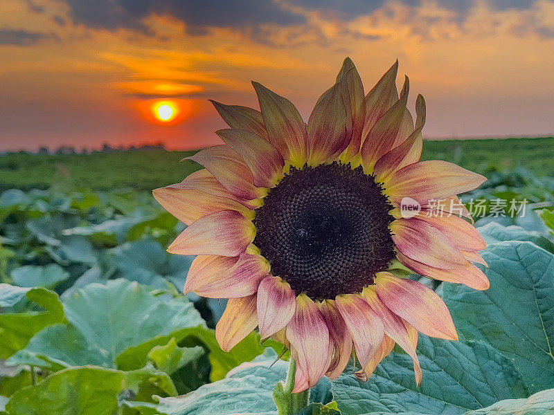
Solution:
M 0 414 L 277 414 L 281 345 L 222 351 L 224 301 L 182 295 L 193 258 L 166 252 L 184 225 L 150 190 L 196 168 L 182 157 L 0 156 Z M 323 378 L 298 414 L 552 414 L 554 139 L 426 142 L 424 158 L 488 176 L 462 201 L 484 201 L 491 288 L 431 285 L 460 342 L 420 334 L 421 385 L 395 349 L 367 382 L 355 362 Z

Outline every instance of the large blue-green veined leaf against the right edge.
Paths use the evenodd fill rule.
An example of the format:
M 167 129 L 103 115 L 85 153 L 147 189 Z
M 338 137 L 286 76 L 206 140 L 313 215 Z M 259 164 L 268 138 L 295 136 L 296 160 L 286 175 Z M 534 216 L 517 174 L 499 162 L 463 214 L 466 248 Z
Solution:
M 490 288 L 444 284 L 463 338 L 483 340 L 514 362 L 533 393 L 554 385 L 554 255 L 530 242 L 493 243 L 481 252 Z

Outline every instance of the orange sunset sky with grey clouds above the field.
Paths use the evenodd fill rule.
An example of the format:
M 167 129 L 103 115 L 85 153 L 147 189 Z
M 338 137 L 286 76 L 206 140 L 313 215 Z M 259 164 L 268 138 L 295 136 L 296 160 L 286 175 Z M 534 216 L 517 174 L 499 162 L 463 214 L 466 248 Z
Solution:
M 251 80 L 307 120 L 346 56 L 366 91 L 399 59 L 425 138 L 554 133 L 554 1 L 1 0 L 0 151 L 214 145 Z

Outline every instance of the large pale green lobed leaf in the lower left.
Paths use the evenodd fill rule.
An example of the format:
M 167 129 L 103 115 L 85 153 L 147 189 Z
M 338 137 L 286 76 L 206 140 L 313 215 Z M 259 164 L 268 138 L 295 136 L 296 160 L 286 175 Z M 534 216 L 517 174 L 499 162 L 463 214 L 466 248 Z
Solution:
M 69 323 L 38 333 L 10 363 L 51 370 L 90 364 L 138 369 L 152 347 L 180 341 L 203 324 L 186 298 L 155 296 L 125 279 L 90 284 L 63 303 Z

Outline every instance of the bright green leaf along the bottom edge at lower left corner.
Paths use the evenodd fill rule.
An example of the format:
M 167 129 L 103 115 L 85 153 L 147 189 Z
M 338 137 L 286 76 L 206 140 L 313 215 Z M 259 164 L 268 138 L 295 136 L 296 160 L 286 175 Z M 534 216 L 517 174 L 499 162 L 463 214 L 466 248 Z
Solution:
M 169 377 L 151 366 L 129 372 L 100 367 L 64 369 L 17 391 L 6 410 L 10 415 L 117 414 L 118 394 L 135 396 L 148 382 L 161 386 L 159 391 L 175 392 Z

